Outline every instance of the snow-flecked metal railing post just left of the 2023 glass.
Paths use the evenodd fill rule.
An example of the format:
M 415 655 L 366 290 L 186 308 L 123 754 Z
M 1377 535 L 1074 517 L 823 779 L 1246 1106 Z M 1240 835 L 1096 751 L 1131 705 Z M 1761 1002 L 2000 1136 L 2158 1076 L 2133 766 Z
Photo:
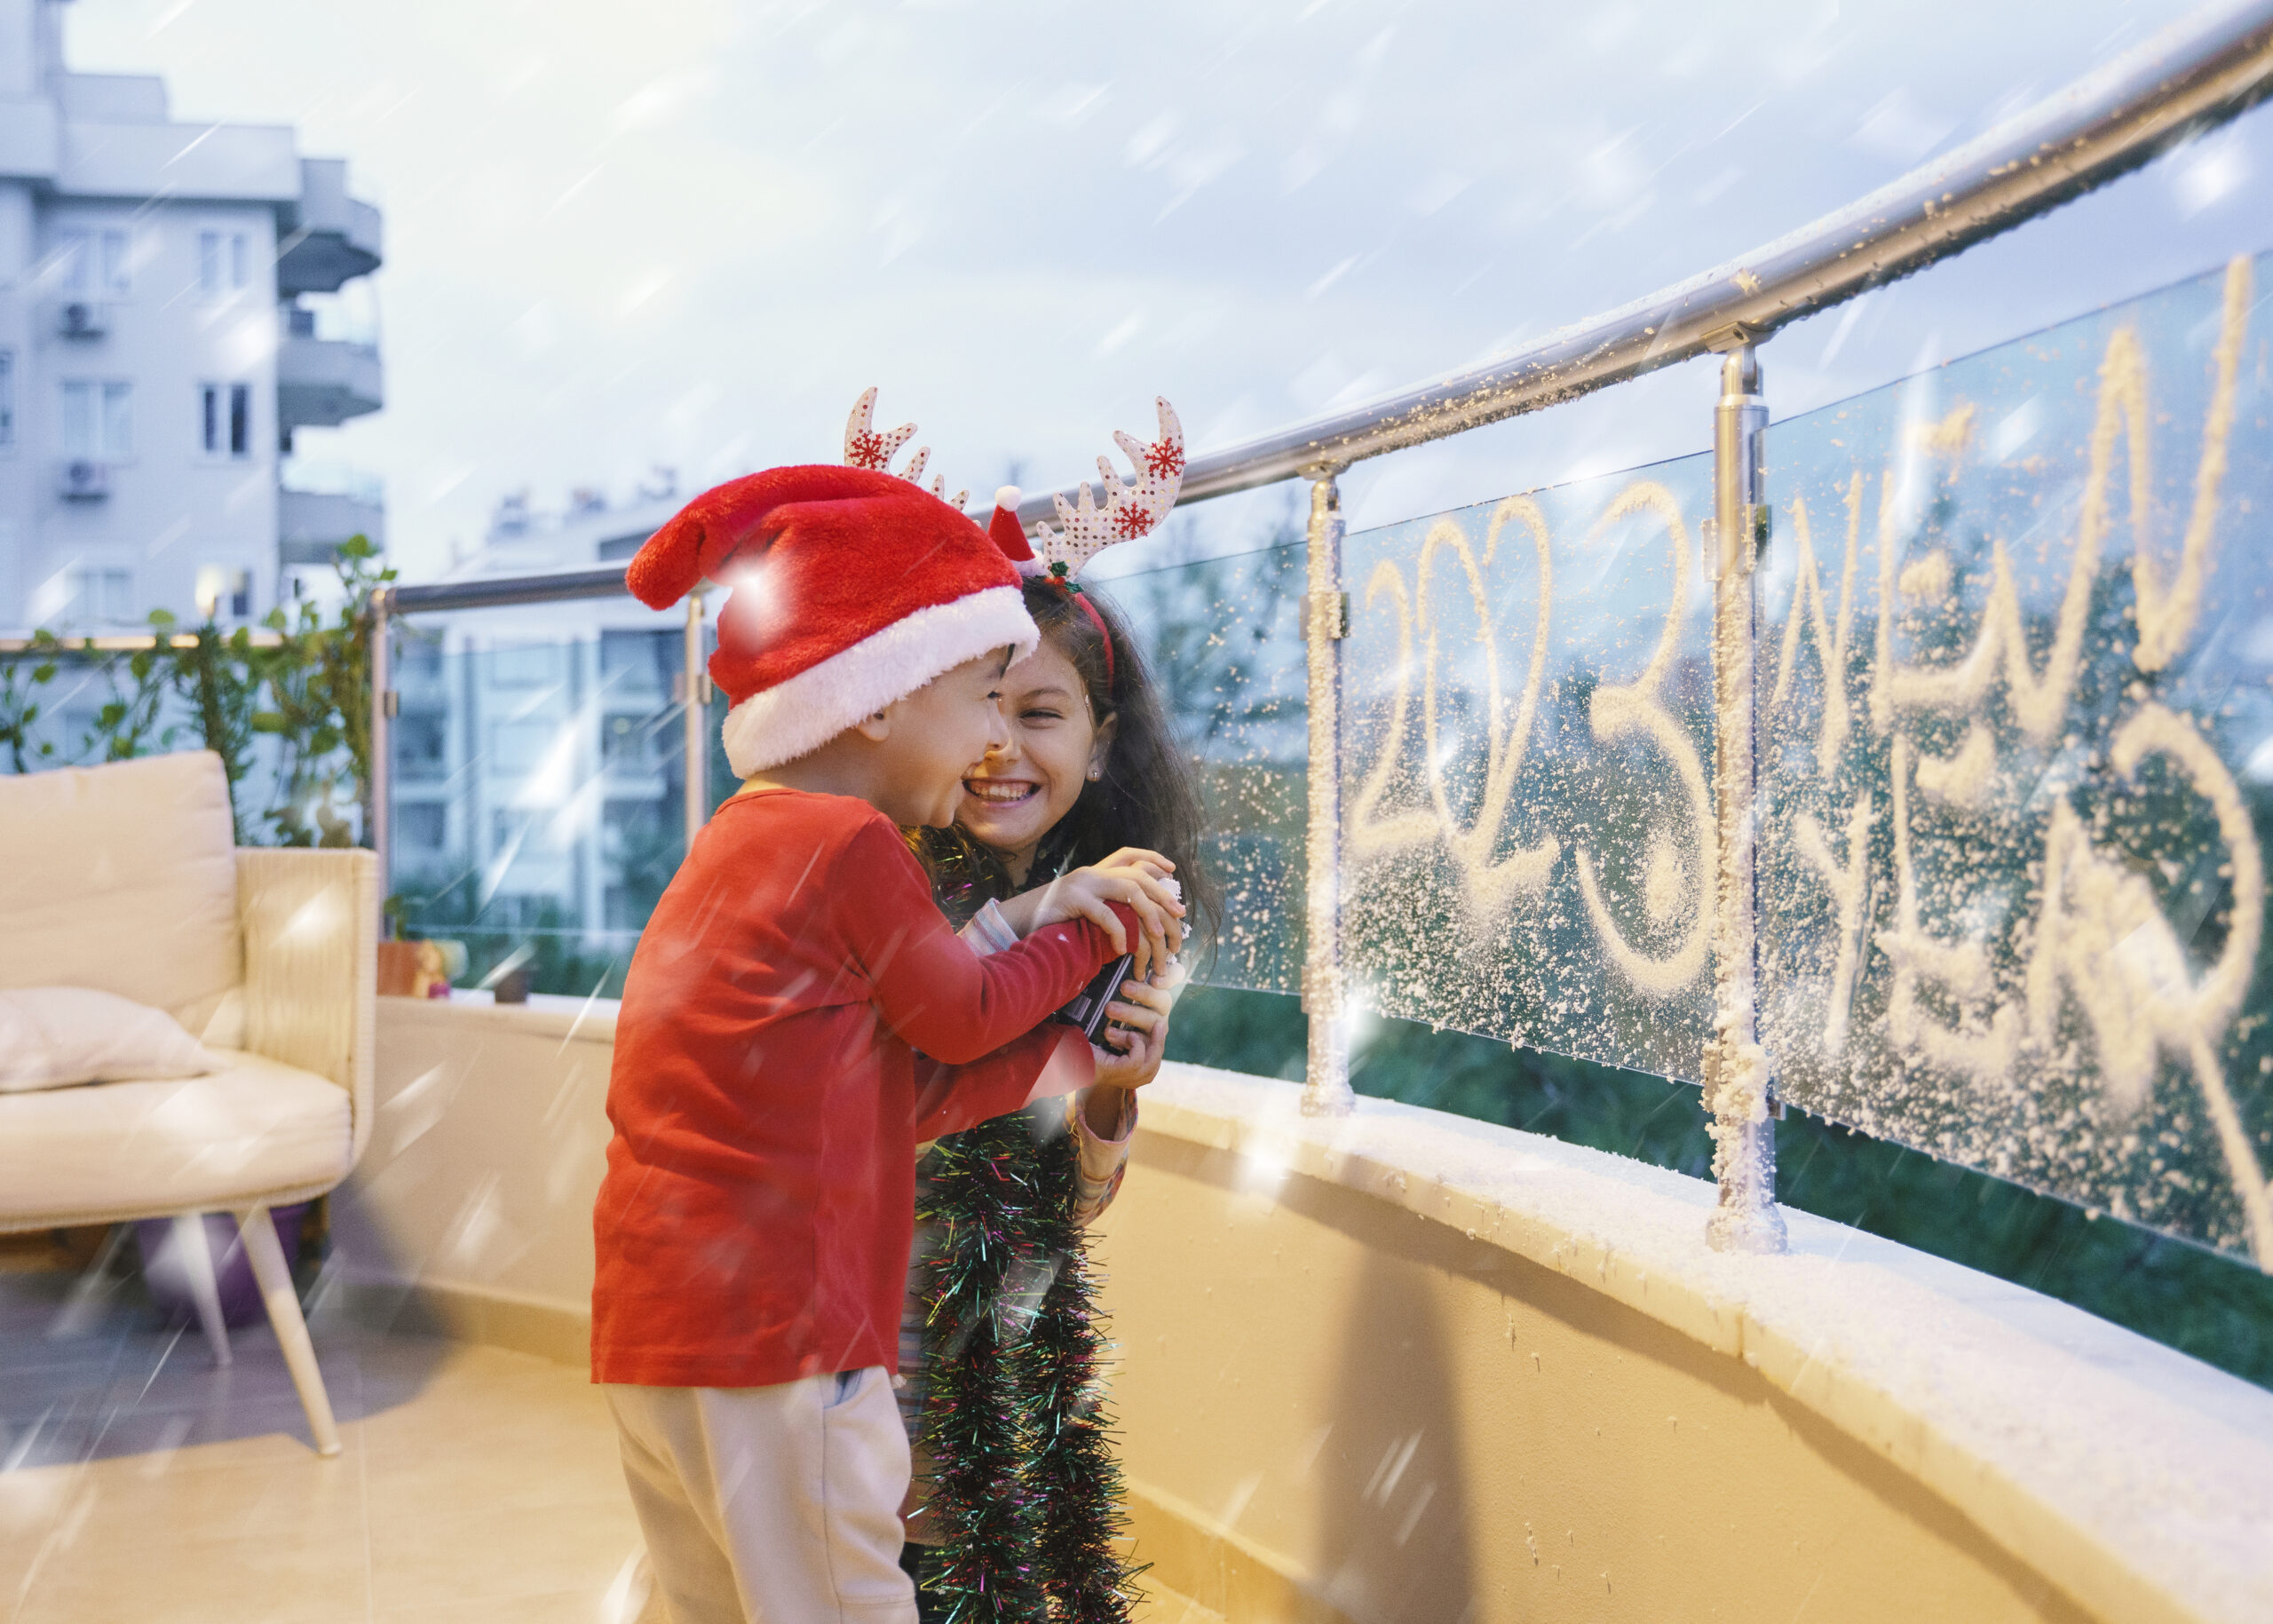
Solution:
M 1350 1094 L 1350 1028 L 1341 976 L 1341 639 L 1350 598 L 1341 587 L 1341 489 L 1337 469 L 1309 473 L 1309 948 L 1302 958 L 1302 1010 L 1309 1014 L 1305 1117 L 1339 1117 Z

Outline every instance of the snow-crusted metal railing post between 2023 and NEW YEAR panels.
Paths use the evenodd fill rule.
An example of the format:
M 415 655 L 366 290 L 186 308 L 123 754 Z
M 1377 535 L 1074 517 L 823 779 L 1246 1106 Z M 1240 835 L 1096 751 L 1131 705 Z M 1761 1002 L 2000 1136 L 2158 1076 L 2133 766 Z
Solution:
M 1714 1037 L 1705 1051 L 1705 1110 L 1712 1117 L 1714 1178 L 1721 1203 L 1705 1224 L 1714 1251 L 1784 1251 L 1775 1208 L 1775 1121 L 1768 1115 L 1768 1058 L 1759 1046 L 1752 844 L 1752 669 L 1757 655 L 1755 566 L 1768 532 L 1762 444 L 1768 407 L 1759 396 L 1759 355 L 1737 332 L 1721 364 L 1714 409 L 1712 687 L 1714 687 Z

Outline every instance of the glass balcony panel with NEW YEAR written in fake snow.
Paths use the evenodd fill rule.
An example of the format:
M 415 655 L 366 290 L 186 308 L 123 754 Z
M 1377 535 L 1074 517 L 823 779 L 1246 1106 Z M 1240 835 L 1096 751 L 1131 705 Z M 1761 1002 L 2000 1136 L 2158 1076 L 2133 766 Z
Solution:
M 1771 428 L 1759 666 L 1782 1094 L 2259 1260 L 2268 275 Z

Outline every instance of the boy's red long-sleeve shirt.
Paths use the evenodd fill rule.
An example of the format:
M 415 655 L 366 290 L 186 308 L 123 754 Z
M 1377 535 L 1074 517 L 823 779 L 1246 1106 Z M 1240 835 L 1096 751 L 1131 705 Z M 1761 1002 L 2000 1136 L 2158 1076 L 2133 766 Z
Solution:
M 1086 1085 L 1089 1046 L 1048 1017 L 1109 955 L 1084 923 L 973 958 L 864 801 L 718 807 L 616 1017 L 593 1381 L 896 1367 L 916 1144 L 1023 1105 L 1061 1044 Z

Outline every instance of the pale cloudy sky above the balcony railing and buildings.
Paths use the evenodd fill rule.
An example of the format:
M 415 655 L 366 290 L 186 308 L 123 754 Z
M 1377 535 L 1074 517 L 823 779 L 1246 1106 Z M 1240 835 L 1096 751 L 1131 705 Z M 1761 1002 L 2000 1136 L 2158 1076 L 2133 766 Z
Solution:
M 1893 180 L 2171 0 L 77 0 L 86 73 L 293 123 L 386 212 L 405 578 L 500 496 L 834 459 L 868 384 L 950 484 L 1207 450 L 1473 366 Z M 1764 350 L 1789 416 L 2273 246 L 2273 111 Z M 1709 444 L 1709 364 L 1364 464 L 1352 528 Z M 1287 491 L 1159 548 L 1252 546 Z

